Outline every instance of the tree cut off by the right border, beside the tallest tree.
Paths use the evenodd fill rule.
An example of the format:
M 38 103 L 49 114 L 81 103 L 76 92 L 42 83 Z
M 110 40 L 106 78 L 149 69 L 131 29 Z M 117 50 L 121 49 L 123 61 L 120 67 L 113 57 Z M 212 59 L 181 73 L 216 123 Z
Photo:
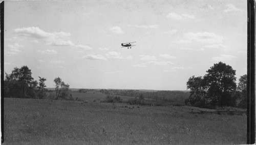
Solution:
M 239 93 L 238 106 L 242 108 L 247 107 L 247 75 L 243 75 L 239 79 L 237 91 Z

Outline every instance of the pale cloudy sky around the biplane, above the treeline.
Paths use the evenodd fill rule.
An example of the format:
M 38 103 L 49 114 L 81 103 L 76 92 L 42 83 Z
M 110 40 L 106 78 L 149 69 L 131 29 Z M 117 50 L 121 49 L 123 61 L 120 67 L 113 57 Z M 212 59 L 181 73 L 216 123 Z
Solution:
M 6 1 L 4 23 L 4 71 L 28 66 L 47 88 L 186 90 L 220 61 L 247 72 L 245 0 Z

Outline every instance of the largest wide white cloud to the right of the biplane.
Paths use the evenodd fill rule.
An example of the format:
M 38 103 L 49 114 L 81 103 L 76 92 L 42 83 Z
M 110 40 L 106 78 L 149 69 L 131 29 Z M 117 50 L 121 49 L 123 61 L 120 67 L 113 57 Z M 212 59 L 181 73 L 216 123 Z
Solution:
M 208 32 L 186 33 L 184 36 L 189 41 L 198 41 L 203 43 L 222 43 L 225 39 L 223 36 Z

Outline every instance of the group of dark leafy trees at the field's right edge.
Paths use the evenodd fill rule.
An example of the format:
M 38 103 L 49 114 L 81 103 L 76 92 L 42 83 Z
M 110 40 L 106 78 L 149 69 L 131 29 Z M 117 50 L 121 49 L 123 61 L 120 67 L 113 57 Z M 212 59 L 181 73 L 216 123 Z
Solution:
M 187 81 L 190 96 L 185 103 L 195 106 L 238 106 L 246 108 L 247 76 L 236 84 L 236 70 L 219 62 L 202 76 L 191 76 Z

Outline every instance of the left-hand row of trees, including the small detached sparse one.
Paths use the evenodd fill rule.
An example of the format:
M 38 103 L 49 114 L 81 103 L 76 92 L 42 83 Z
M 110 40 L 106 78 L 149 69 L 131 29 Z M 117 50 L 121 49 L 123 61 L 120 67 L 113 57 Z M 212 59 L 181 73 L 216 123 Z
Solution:
M 32 72 L 27 66 L 14 68 L 11 74 L 6 74 L 4 80 L 4 97 L 8 98 L 39 98 L 43 99 L 46 95 L 46 78 L 38 76 L 39 80 L 34 80 Z M 61 81 L 59 77 L 54 79 L 55 99 L 68 96 L 69 84 Z

